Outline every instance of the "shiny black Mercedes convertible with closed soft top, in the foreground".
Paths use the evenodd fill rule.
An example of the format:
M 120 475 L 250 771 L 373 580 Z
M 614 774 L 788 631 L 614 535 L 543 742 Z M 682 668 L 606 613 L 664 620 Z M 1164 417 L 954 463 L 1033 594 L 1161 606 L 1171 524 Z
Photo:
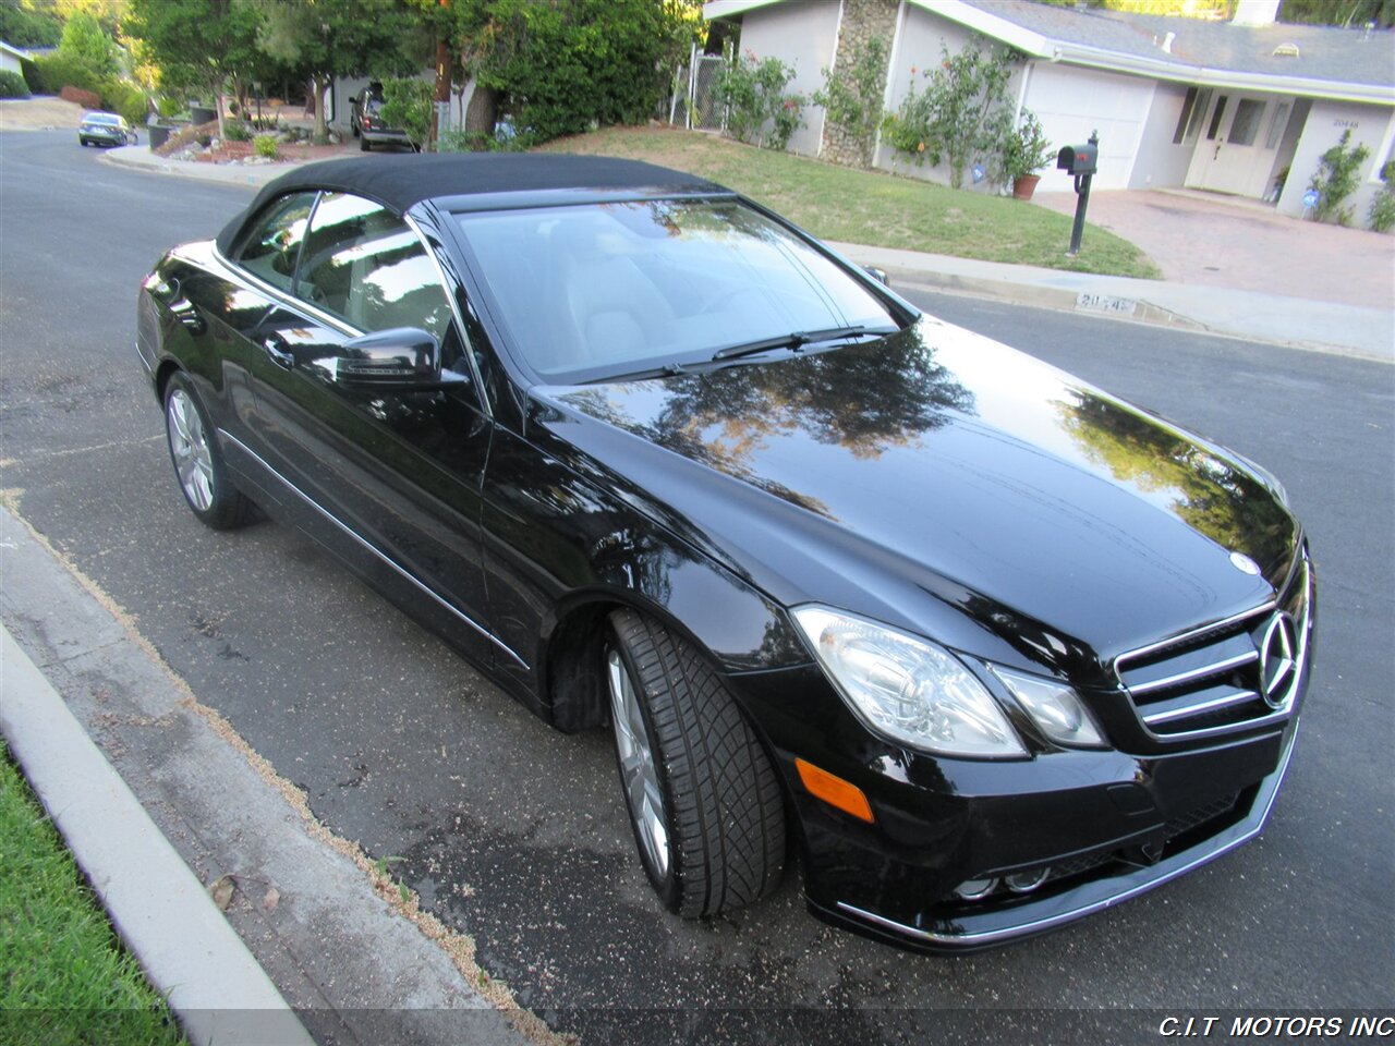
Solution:
M 663 902 L 963 950 L 1256 835 L 1314 575 L 1274 477 L 604 158 L 311 165 L 140 296 L 194 513 L 314 534 L 615 735 Z

